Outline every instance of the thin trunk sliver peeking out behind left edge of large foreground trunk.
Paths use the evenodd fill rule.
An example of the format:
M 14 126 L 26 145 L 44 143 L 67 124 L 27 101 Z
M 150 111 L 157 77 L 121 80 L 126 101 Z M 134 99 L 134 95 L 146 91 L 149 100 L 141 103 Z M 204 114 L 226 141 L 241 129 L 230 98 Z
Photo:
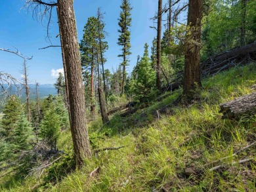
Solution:
M 61 12 L 58 9 L 57 6 L 57 15 L 58 15 L 58 28 L 59 28 L 59 33 L 60 33 L 60 46 L 61 46 L 61 53 L 62 53 L 62 63 L 63 63 L 63 69 L 64 69 L 64 78 L 65 78 L 65 86 L 66 86 L 66 92 L 64 95 L 64 100 L 65 100 L 65 106 L 68 109 L 68 115 L 69 115 L 69 119 L 70 119 L 70 123 L 71 123 L 71 111 L 70 111 L 70 97 L 69 97 L 69 93 L 68 93 L 68 73 L 67 73 L 67 67 L 66 67 L 66 62 L 65 62 L 65 54 L 64 54 L 64 45 L 63 45 L 63 40 L 62 40 L 62 33 L 61 33 L 61 29 L 60 29 L 60 14 Z

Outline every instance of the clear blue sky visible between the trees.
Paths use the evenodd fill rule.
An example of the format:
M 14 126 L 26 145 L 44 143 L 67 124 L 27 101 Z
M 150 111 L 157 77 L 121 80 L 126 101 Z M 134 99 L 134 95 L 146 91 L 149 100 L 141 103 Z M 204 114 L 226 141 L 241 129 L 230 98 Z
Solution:
M 32 17 L 32 12 L 22 9 L 24 0 L 0 0 L 0 48 L 10 48 L 14 50 L 18 48 L 20 52 L 27 56 L 33 56 L 28 62 L 29 79 L 33 83 L 35 80 L 40 84 L 54 83 L 56 79 L 53 72 L 61 69 L 62 58 L 60 48 L 47 48 L 39 50 L 41 47 L 47 47 L 49 41 L 47 35 L 47 23 L 37 21 Z M 106 68 L 112 71 L 121 62 L 117 55 L 121 52 L 117 45 L 118 38 L 118 21 L 119 6 L 121 0 L 74 0 L 75 18 L 77 21 L 78 41 L 83 37 L 83 26 L 87 22 L 87 18 L 95 16 L 98 7 L 104 14 L 106 23 L 106 41 L 108 41 L 109 49 L 105 56 L 107 62 Z M 131 27 L 131 52 L 130 66 L 128 72 L 131 72 L 137 61 L 137 55 L 143 54 L 144 43 L 150 46 L 152 40 L 156 36 L 156 31 L 149 28 L 153 26 L 150 18 L 154 16 L 158 9 L 158 1 L 156 0 L 131 0 L 132 10 L 132 27 Z M 53 12 L 53 20 L 50 26 L 50 35 L 53 45 L 60 45 L 58 34 L 58 24 L 56 12 Z M 10 73 L 14 77 L 20 79 L 20 69 L 22 69 L 21 58 L 13 54 L 0 51 L 0 71 Z M 53 71 L 54 70 L 54 71 Z

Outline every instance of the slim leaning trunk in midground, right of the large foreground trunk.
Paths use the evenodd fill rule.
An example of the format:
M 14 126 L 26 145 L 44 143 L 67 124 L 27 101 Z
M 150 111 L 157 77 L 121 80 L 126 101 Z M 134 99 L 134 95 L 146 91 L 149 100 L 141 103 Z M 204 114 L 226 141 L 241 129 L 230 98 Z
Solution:
M 98 50 L 97 50 L 97 69 L 98 69 L 98 100 L 100 103 L 100 113 L 102 117 L 103 124 L 108 123 L 108 110 L 106 108 L 106 100 L 104 99 L 104 93 L 101 88 L 101 80 L 100 80 L 100 64 L 98 61 Z

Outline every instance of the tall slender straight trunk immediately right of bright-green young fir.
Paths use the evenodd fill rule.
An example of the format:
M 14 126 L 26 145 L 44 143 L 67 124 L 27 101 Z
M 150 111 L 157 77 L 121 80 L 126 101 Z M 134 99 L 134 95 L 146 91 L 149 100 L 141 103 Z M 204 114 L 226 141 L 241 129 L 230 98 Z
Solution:
M 161 90 L 161 13 L 162 13 L 162 0 L 158 0 L 158 37 L 156 40 L 156 87 Z

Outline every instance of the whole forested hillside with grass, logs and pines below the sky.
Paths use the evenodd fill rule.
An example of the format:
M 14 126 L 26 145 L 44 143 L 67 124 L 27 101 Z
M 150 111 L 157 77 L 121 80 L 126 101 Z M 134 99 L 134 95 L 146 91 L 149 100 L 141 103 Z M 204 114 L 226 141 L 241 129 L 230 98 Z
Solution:
M 115 3 L 110 69 L 104 7 L 79 39 L 72 0 L 24 1 L 47 42 L 58 20 L 41 49 L 63 73 L 42 98 L 33 57 L 0 48 L 23 62 L 22 80 L 0 71 L 0 191 L 255 191 L 256 1 L 158 0 L 136 64 L 137 4 Z

